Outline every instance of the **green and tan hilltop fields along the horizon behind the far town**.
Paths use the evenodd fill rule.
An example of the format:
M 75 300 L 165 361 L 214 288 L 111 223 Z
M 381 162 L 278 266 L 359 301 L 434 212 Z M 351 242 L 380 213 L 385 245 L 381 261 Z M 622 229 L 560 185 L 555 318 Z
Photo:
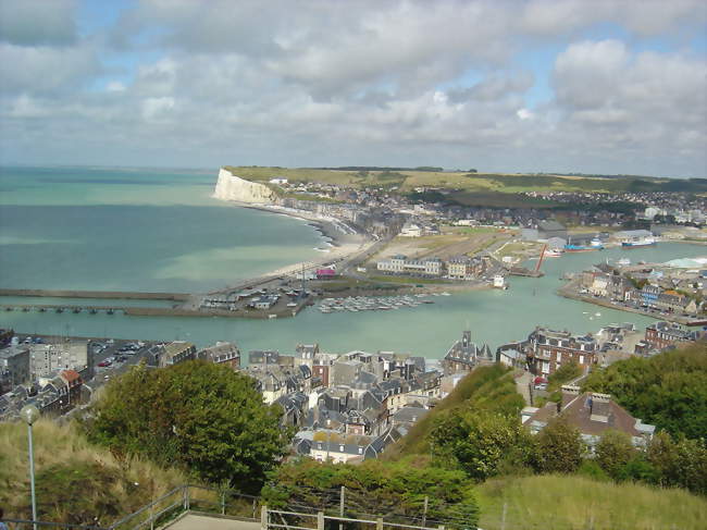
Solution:
M 409 193 L 417 187 L 442 187 L 461 192 L 459 201 L 470 201 L 466 193 L 519 194 L 523 192 L 707 192 L 706 178 L 656 178 L 648 176 L 616 175 L 560 175 L 560 174 L 509 174 L 509 173 L 468 173 L 433 171 L 437 168 L 406 170 L 399 168 L 375 169 L 310 169 L 310 168 L 266 168 L 266 167 L 225 167 L 234 174 L 252 181 L 268 181 L 275 176 L 290 182 L 321 182 L 351 187 L 397 186 Z M 431 171 L 432 170 L 432 171 Z M 457 196 L 455 196 L 455 199 Z M 543 206 L 542 201 L 535 201 Z M 505 205 L 501 205 L 505 206 Z

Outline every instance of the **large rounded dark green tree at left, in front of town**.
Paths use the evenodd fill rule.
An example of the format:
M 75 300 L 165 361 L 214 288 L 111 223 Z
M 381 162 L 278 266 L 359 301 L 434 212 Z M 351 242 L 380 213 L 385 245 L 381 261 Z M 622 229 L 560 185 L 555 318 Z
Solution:
M 108 385 L 94 412 L 92 441 L 243 490 L 262 485 L 288 442 L 280 406 L 263 405 L 255 380 L 204 361 L 136 367 Z

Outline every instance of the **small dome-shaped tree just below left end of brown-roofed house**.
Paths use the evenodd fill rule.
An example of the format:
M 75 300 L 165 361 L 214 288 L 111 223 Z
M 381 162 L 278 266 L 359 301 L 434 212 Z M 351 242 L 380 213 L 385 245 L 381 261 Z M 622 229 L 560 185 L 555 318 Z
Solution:
M 557 417 L 537 434 L 535 467 L 544 473 L 573 473 L 582 464 L 584 443 L 576 429 Z

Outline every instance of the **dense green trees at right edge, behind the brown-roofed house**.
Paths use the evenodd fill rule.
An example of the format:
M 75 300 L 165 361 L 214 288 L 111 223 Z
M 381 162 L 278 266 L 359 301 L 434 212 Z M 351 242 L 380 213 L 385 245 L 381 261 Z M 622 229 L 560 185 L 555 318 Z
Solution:
M 707 437 L 707 344 L 632 357 L 596 370 L 585 387 L 611 394 L 633 416 L 673 436 Z

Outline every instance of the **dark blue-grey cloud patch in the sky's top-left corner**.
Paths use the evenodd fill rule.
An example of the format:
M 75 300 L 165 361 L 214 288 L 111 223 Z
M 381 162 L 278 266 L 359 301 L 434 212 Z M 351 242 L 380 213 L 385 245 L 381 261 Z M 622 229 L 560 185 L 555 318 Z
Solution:
M 76 41 L 74 0 L 0 0 L 0 41 L 16 46 Z

